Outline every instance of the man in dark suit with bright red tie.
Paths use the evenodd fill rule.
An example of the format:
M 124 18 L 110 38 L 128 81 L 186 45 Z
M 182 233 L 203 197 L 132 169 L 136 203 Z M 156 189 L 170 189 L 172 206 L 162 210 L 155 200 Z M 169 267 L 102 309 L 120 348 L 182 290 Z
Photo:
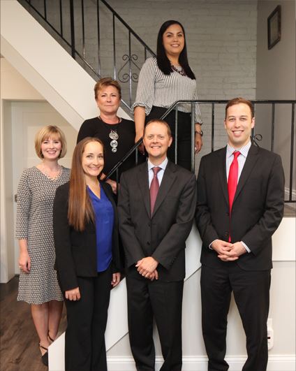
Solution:
M 202 333 L 208 370 L 228 370 L 227 315 L 234 293 L 246 333 L 242 370 L 267 368 L 272 234 L 283 217 L 284 176 L 279 155 L 251 144 L 253 106 L 242 98 L 225 112 L 228 145 L 202 157 L 196 223 L 202 238 Z

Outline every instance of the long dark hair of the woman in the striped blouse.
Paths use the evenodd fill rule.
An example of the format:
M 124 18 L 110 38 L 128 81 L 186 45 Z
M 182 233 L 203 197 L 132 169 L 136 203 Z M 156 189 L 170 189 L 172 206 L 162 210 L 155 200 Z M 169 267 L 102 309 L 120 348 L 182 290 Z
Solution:
M 170 60 L 168 59 L 167 55 L 165 54 L 165 48 L 163 47 L 163 34 L 168 29 L 168 27 L 172 26 L 172 24 L 179 24 L 179 26 L 182 28 L 183 34 L 184 34 L 184 48 L 182 52 L 179 55 L 179 64 L 184 69 L 186 75 L 188 78 L 191 78 L 192 80 L 195 80 L 195 75 L 192 72 L 191 68 L 188 64 L 188 58 L 187 58 L 187 48 L 186 48 L 186 37 L 185 37 L 185 31 L 182 24 L 175 20 L 168 20 L 165 21 L 161 28 L 158 31 L 157 36 L 157 65 L 158 68 L 163 71 L 165 75 L 170 75 L 172 72 L 172 67 L 170 66 Z

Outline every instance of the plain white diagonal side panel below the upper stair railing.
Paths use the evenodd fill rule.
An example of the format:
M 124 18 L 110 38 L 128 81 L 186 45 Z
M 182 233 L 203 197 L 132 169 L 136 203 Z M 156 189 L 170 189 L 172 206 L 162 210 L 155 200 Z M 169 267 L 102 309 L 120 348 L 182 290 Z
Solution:
M 20 3 L 1 0 L 0 5 L 1 54 L 78 130 L 84 119 L 97 115 L 94 79 Z

